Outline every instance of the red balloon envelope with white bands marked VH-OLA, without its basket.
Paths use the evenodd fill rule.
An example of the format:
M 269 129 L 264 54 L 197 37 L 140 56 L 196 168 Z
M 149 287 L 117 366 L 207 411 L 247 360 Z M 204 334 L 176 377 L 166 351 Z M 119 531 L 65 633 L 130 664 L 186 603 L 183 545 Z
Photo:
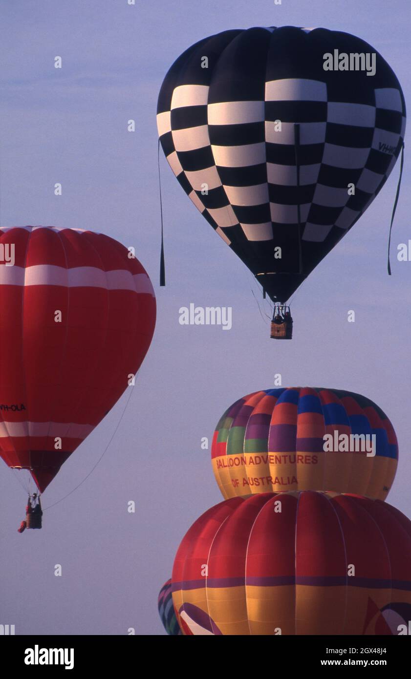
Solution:
M 0 252 L 0 454 L 43 492 L 139 369 L 156 300 L 103 234 L 2 228 Z

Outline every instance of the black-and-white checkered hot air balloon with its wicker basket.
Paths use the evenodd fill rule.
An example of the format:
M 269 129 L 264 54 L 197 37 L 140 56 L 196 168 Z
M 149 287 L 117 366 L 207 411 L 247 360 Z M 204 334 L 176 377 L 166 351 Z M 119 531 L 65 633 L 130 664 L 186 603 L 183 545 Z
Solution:
M 342 70 L 351 55 L 357 70 Z M 185 50 L 164 78 L 157 122 L 186 194 L 282 316 L 389 177 L 406 107 L 391 67 L 360 38 L 258 27 Z M 272 336 L 291 329 L 273 324 Z

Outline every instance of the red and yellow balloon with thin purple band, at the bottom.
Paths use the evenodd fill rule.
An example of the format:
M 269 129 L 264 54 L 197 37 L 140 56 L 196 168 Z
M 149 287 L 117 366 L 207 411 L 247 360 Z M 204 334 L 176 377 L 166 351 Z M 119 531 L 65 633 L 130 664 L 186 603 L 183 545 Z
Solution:
M 185 635 L 404 634 L 411 521 L 355 495 L 232 498 L 187 532 L 172 583 Z

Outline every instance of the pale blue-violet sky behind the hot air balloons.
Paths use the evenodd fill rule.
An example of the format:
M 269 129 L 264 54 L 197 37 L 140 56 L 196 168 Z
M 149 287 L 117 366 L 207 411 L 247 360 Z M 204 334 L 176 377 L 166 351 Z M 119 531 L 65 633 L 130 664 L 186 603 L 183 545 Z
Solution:
M 160 206 L 156 101 L 185 48 L 253 25 L 355 33 L 384 56 L 406 100 L 408 0 L 3 0 L 0 8 L 1 225 L 101 230 L 137 256 L 156 287 L 154 342 L 113 443 L 41 532 L 16 529 L 26 497 L 0 466 L 0 623 L 16 634 L 162 634 L 156 601 L 183 534 L 221 496 L 200 438 L 243 394 L 273 385 L 362 392 L 391 417 L 399 471 L 389 501 L 411 517 L 410 164 L 387 237 L 399 166 L 367 213 L 296 293 L 295 339 L 273 342 L 244 265 L 192 206 L 162 158 L 167 287 L 158 287 Z M 54 56 L 62 69 L 54 69 Z M 126 131 L 130 118 L 134 134 Z M 62 196 L 54 196 L 54 183 Z M 233 327 L 183 327 L 178 310 L 232 306 Z M 387 308 L 395 325 L 381 323 Z M 347 323 L 348 310 L 356 312 Z M 43 498 L 56 502 L 98 460 L 126 397 L 63 466 Z M 128 500 L 137 511 L 127 513 Z M 54 576 L 62 564 L 62 577 Z

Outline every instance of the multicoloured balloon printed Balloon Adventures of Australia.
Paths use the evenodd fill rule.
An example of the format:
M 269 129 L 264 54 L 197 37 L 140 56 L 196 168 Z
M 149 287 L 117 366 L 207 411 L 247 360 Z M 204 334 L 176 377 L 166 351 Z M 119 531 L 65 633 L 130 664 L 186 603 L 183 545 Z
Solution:
M 211 458 L 224 498 L 329 490 L 385 500 L 398 444 L 387 415 L 361 394 L 277 388 L 248 394 L 226 410 Z

